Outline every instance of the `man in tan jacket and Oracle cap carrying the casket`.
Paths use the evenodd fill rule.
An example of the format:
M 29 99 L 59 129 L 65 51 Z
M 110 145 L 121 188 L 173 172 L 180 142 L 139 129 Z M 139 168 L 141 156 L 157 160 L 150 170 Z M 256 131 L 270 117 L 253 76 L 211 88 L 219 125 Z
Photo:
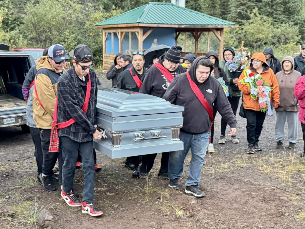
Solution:
M 52 181 L 53 167 L 56 164 L 59 153 L 49 152 L 52 118 L 57 96 L 57 81 L 69 63 L 66 49 L 62 45 L 52 45 L 48 49 L 48 55 L 42 56 L 37 61 L 37 74 L 34 79 L 33 92 L 33 118 L 39 128 L 41 148 L 43 154 L 42 173 L 39 178 L 46 191 L 55 191 Z

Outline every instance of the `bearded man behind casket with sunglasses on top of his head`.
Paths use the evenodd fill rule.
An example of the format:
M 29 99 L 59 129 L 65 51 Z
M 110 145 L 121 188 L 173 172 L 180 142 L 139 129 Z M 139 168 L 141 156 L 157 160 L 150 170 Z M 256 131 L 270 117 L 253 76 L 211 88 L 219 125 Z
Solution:
M 123 58 L 123 57 L 122 57 Z M 146 69 L 144 67 L 144 53 L 135 51 L 132 53 L 132 68 L 123 71 L 118 76 L 117 85 L 115 88 L 120 88 L 128 91 L 139 92 Z M 134 169 L 133 176 L 138 176 L 138 167 L 141 163 L 141 156 L 127 157 L 125 160 L 125 167 Z

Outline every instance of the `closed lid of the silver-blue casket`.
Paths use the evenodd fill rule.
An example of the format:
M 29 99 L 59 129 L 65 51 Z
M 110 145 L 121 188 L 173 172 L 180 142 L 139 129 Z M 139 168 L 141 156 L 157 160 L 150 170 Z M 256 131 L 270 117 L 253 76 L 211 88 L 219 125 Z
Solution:
M 110 117 L 182 112 L 184 107 L 156 96 L 98 86 L 96 111 Z

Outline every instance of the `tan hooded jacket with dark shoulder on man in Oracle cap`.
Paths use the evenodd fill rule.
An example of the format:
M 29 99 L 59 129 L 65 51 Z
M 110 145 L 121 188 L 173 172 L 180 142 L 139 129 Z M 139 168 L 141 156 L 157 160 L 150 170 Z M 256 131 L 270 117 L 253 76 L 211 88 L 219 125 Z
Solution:
M 69 68 L 69 63 L 66 63 L 65 69 Z M 37 128 L 51 129 L 52 119 L 57 97 L 57 81 L 61 75 L 48 62 L 47 56 L 41 56 L 37 60 L 37 75 L 35 76 L 35 90 L 33 92 L 33 118 Z M 38 102 L 37 96 L 44 108 Z

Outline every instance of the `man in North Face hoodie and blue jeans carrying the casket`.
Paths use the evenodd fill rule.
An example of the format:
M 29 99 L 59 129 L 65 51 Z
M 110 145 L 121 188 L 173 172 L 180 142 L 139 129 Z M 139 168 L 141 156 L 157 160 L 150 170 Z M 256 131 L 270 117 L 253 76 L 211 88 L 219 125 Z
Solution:
M 163 96 L 163 99 L 172 104 L 185 107 L 183 128 L 180 132 L 184 149 L 170 152 L 168 186 L 178 189 L 183 163 L 191 148 L 192 158 L 189 164 L 189 176 L 185 182 L 185 193 L 196 197 L 205 196 L 205 193 L 199 189 L 199 181 L 206 149 L 209 145 L 210 126 L 214 120 L 213 104 L 230 125 L 229 135 L 236 133 L 236 117 L 220 83 L 217 79 L 210 77 L 211 71 L 213 71 L 213 63 L 205 56 L 198 57 L 187 73 L 173 79 Z

